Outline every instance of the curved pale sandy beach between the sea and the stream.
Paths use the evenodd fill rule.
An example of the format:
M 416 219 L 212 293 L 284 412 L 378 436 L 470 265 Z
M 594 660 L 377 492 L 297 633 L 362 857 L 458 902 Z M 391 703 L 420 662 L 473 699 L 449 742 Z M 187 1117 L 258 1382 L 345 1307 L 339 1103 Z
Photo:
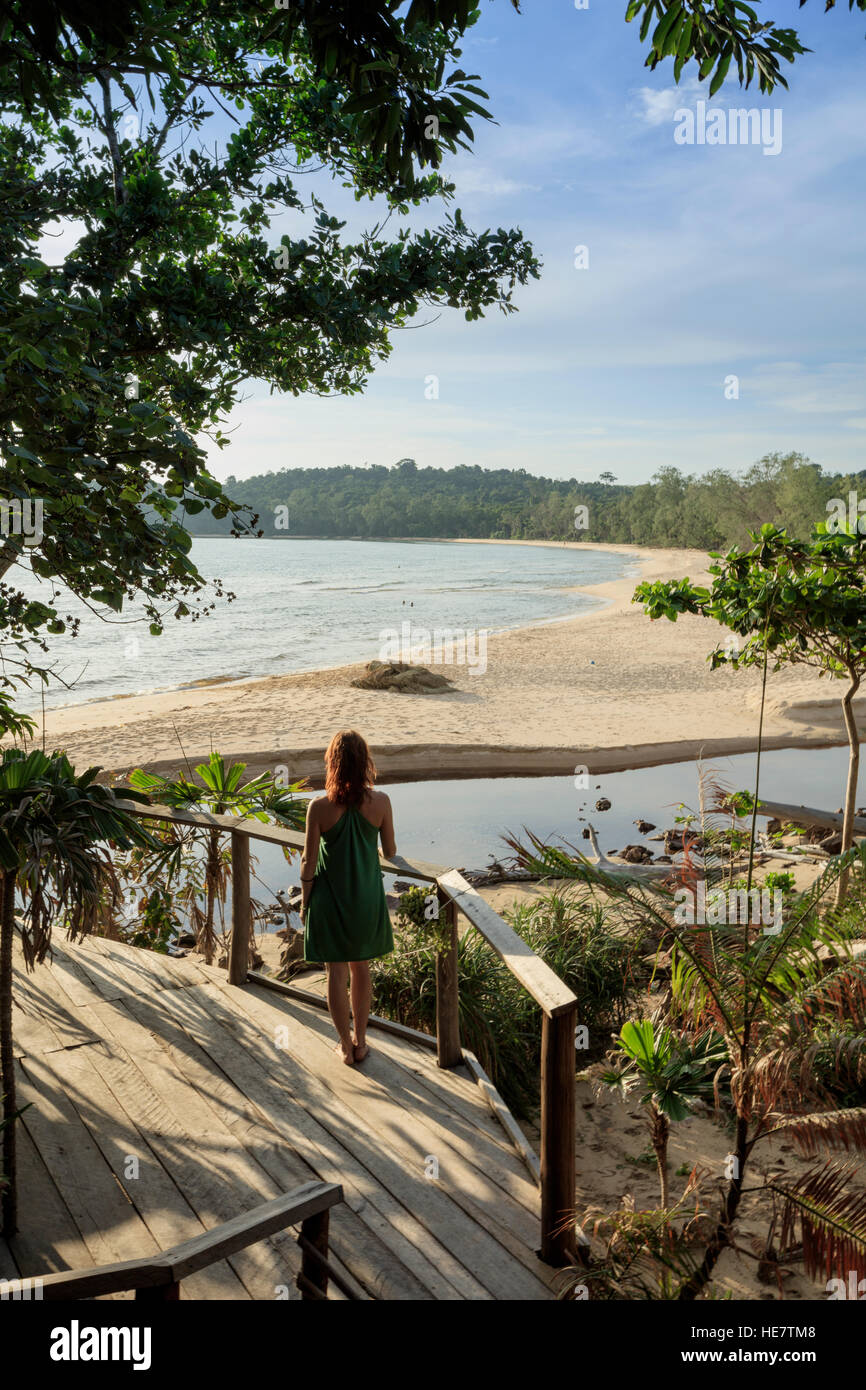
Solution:
M 639 580 L 706 578 L 708 556 L 595 549 L 634 562 L 628 577 L 580 591 L 605 606 L 491 635 L 482 674 L 435 667 L 453 691 L 354 689 L 359 664 L 209 684 L 51 710 L 46 746 L 114 777 L 136 766 L 177 769 L 215 748 L 252 769 L 316 780 L 331 734 L 353 726 L 373 745 L 384 781 L 619 771 L 752 749 L 759 674 L 713 673 L 706 662 L 724 630 L 696 617 L 651 623 L 631 602 Z M 837 691 L 805 669 L 770 676 L 765 734 L 770 748 L 842 742 Z

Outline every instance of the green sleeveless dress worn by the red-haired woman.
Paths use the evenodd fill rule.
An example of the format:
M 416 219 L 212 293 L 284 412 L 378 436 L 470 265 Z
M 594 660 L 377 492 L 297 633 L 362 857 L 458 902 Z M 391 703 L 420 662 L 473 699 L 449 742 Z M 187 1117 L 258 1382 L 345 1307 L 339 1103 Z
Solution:
M 357 806 L 346 806 L 322 830 L 304 923 L 306 960 L 373 960 L 393 951 L 378 838 Z

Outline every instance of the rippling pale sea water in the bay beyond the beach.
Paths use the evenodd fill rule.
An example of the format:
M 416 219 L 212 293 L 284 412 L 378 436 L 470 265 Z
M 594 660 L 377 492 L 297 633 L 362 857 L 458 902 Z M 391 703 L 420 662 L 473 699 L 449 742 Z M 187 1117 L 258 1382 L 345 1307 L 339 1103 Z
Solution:
M 428 541 L 209 538 L 193 541 L 192 555 L 235 602 L 218 603 L 199 623 L 168 619 L 154 638 L 135 613 L 101 621 L 64 598 L 61 612 L 81 617 L 81 632 L 50 639 L 51 664 L 72 689 L 54 684 L 49 705 L 371 660 L 381 634 L 405 621 L 413 630 L 495 631 L 562 619 L 599 603 L 571 592 L 575 585 L 637 573 L 634 562 L 609 552 Z M 21 587 L 44 592 L 32 575 Z

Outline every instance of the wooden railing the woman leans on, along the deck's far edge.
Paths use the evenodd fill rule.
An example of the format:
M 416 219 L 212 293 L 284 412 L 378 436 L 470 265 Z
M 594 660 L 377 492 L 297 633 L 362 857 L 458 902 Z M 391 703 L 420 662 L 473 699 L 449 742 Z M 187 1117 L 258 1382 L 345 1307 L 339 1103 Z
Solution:
M 172 820 L 182 826 L 220 830 L 231 834 L 232 841 L 232 930 L 228 951 L 229 984 L 243 984 L 249 977 L 250 942 L 250 840 L 303 849 L 304 837 L 300 831 L 282 826 L 267 824 L 254 817 L 217 816 L 209 812 L 174 810 L 168 806 L 143 806 L 138 802 L 120 802 L 126 810 L 149 820 Z M 436 897 L 445 909 L 449 924 L 448 944 L 436 958 L 436 1058 L 442 1068 L 466 1063 L 474 1079 L 485 1090 L 485 1095 L 509 1136 L 517 1143 L 541 1187 L 541 1258 L 552 1265 L 567 1264 L 575 1254 L 574 1225 L 574 1042 L 577 1027 L 577 997 L 559 976 L 517 935 L 517 933 L 493 912 L 489 903 L 477 892 L 456 869 L 443 869 L 418 860 L 410 862 L 399 856 L 393 859 L 379 853 L 379 865 L 385 873 L 399 874 L 434 885 Z M 464 917 L 481 933 L 503 965 L 512 972 L 527 994 L 542 1012 L 541 1034 L 541 1163 L 534 1163 L 534 1155 L 523 1134 L 507 1112 L 489 1077 L 480 1066 L 474 1054 L 461 1047 L 460 1041 L 460 981 L 457 979 L 457 915 Z M 261 983 L 268 983 L 264 977 Z M 286 994 L 304 997 L 304 991 L 284 986 Z M 310 1002 L 324 1006 L 316 995 L 307 995 Z M 416 1030 L 384 1019 L 371 1019 L 373 1026 L 389 1027 L 391 1031 L 414 1034 L 414 1040 L 427 1038 Z M 507 1120 L 506 1120 L 507 1116 Z

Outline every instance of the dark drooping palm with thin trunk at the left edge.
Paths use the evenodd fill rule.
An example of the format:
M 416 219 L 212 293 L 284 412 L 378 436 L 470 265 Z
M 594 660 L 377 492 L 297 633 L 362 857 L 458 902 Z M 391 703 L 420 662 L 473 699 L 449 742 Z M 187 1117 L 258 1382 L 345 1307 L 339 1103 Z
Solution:
M 96 781 L 99 769 L 75 773 L 65 753 L 0 758 L 0 1093 L 3 1093 L 3 1232 L 17 1230 L 15 1069 L 13 1061 L 13 940 L 21 899 L 28 969 L 51 948 L 51 930 L 86 935 L 99 923 L 115 881 L 113 848 L 156 848 L 150 833 L 117 805 L 118 792 Z M 139 792 L 128 799 L 146 801 Z

